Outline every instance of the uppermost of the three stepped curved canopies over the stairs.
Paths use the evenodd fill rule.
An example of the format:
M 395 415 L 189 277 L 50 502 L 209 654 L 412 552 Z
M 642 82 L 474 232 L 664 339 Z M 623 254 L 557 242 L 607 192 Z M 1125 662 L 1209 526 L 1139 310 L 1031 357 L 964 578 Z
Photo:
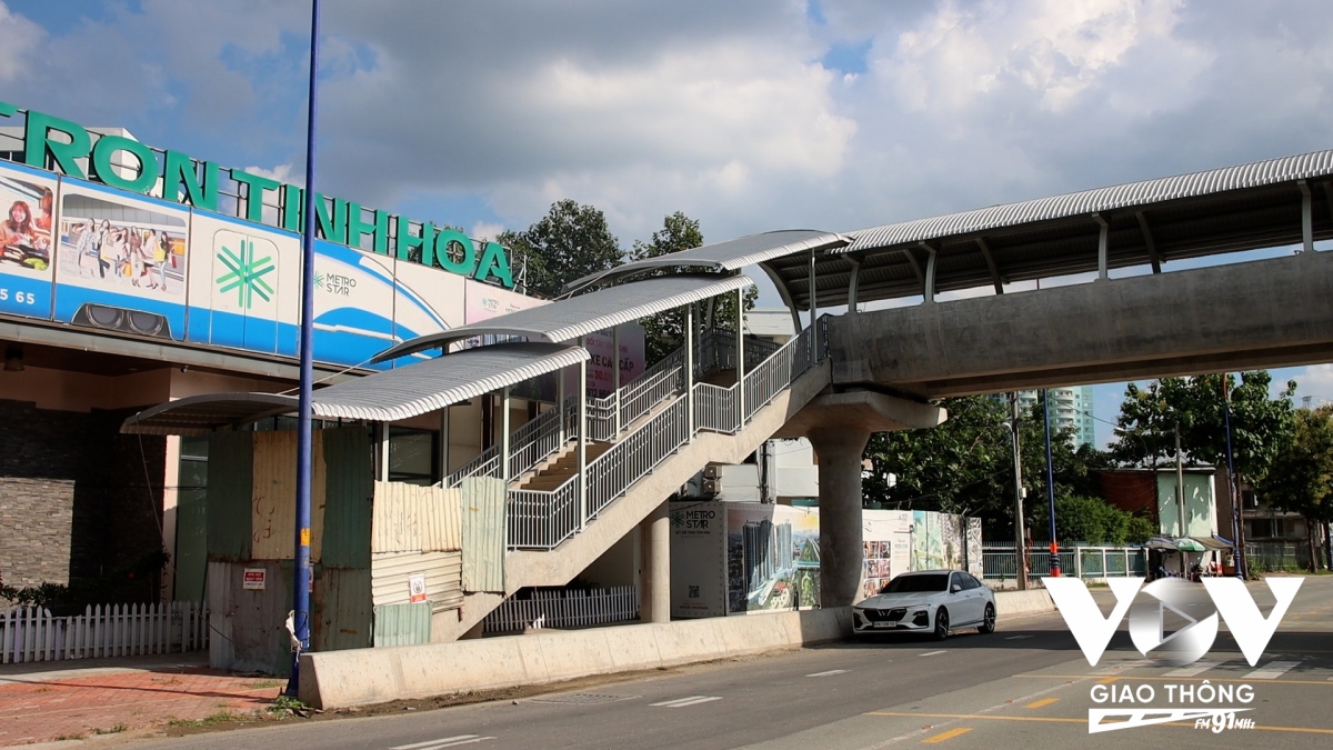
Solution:
M 781 230 L 761 232 L 717 244 L 705 244 L 682 250 L 659 258 L 645 258 L 607 271 L 589 274 L 565 284 L 563 292 L 573 294 L 597 283 L 613 282 L 636 274 L 659 268 L 712 268 L 717 271 L 740 271 L 745 266 L 762 263 L 773 258 L 785 258 L 808 250 L 832 250 L 852 242 L 850 238 L 818 230 Z

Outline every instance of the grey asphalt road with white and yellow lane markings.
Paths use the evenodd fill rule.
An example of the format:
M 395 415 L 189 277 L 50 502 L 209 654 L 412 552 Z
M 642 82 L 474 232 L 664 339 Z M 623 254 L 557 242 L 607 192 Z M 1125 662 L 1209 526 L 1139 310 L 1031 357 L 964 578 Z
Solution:
M 1266 587 L 1252 589 L 1268 611 Z M 1108 594 L 1100 599 L 1109 601 Z M 1268 602 L 1272 599 L 1268 598 Z M 1306 579 L 1257 667 L 1228 634 L 1184 670 L 1153 666 L 1121 631 L 1089 667 L 1058 615 L 993 635 L 874 641 L 690 667 L 580 693 L 405 715 L 153 741 L 151 747 L 1176 747 L 1333 746 L 1333 578 Z M 1089 735 L 1090 691 L 1250 685 L 1253 730 L 1188 725 Z M 1121 703 L 1118 707 L 1133 709 Z M 1238 714 L 1242 715 L 1242 714 Z M 1148 745 L 1145 745 L 1148 746 Z

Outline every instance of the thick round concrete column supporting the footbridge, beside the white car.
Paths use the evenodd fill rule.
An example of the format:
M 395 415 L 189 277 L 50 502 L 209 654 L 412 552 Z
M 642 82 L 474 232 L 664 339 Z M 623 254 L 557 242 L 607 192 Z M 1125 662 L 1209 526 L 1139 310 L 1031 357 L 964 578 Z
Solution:
M 861 454 L 870 431 L 817 427 L 809 439 L 820 459 L 820 606 L 845 607 L 861 583 Z

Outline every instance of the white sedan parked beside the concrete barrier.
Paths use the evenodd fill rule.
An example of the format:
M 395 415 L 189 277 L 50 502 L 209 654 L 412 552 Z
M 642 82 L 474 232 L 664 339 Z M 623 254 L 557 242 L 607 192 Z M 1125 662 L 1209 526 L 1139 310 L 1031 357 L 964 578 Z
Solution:
M 904 573 L 852 607 L 852 629 L 868 633 L 949 633 L 976 627 L 994 633 L 996 595 L 960 570 Z

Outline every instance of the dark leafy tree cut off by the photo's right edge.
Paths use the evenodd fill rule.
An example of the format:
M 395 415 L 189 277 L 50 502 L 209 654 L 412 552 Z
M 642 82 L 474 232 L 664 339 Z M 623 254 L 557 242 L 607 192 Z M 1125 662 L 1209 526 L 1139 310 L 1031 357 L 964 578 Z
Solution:
M 1318 570 L 1314 530 L 1333 520 L 1333 406 L 1294 411 L 1292 443 L 1256 488 L 1268 504 L 1305 518 L 1310 571 Z

